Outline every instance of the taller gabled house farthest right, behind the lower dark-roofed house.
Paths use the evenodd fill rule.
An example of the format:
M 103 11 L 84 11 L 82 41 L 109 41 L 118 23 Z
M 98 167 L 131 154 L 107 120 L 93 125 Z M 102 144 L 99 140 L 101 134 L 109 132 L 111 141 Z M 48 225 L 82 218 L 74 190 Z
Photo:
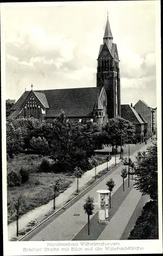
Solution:
M 147 138 L 150 138 L 154 135 L 156 124 L 156 112 L 157 108 L 151 108 L 145 101 L 139 100 L 133 108 L 137 113 L 141 114 L 144 120 L 148 123 L 148 131 L 146 134 Z

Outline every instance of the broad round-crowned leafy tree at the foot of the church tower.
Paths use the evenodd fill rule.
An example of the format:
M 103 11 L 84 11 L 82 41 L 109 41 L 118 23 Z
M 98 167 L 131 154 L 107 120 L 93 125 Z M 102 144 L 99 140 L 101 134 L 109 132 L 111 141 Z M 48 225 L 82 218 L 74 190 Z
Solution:
M 135 137 L 135 126 L 119 116 L 108 120 L 102 127 L 104 144 L 112 146 L 123 146 L 125 143 L 131 143 Z

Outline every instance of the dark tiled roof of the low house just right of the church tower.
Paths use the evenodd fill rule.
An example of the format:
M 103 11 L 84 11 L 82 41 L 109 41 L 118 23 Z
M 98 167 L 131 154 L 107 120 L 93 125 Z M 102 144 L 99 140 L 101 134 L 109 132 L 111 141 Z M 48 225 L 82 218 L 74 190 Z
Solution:
M 131 123 L 145 123 L 129 104 L 121 105 L 121 117 L 130 121 Z

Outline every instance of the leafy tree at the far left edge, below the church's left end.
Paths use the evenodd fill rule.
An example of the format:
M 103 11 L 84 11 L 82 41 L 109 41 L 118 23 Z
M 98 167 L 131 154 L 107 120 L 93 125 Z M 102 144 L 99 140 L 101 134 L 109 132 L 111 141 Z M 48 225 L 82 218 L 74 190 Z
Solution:
M 12 122 L 6 122 L 6 146 L 7 154 L 10 158 L 13 157 L 13 154 L 18 154 L 22 150 L 23 138 L 21 129 L 16 129 Z

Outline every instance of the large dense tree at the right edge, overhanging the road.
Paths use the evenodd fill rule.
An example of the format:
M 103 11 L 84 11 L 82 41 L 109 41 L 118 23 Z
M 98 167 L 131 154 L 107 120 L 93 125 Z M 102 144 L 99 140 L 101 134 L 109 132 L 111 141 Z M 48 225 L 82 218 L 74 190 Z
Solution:
M 149 146 L 146 152 L 138 153 L 134 173 L 134 187 L 140 190 L 142 195 L 149 195 L 151 199 L 157 200 L 157 142 Z

